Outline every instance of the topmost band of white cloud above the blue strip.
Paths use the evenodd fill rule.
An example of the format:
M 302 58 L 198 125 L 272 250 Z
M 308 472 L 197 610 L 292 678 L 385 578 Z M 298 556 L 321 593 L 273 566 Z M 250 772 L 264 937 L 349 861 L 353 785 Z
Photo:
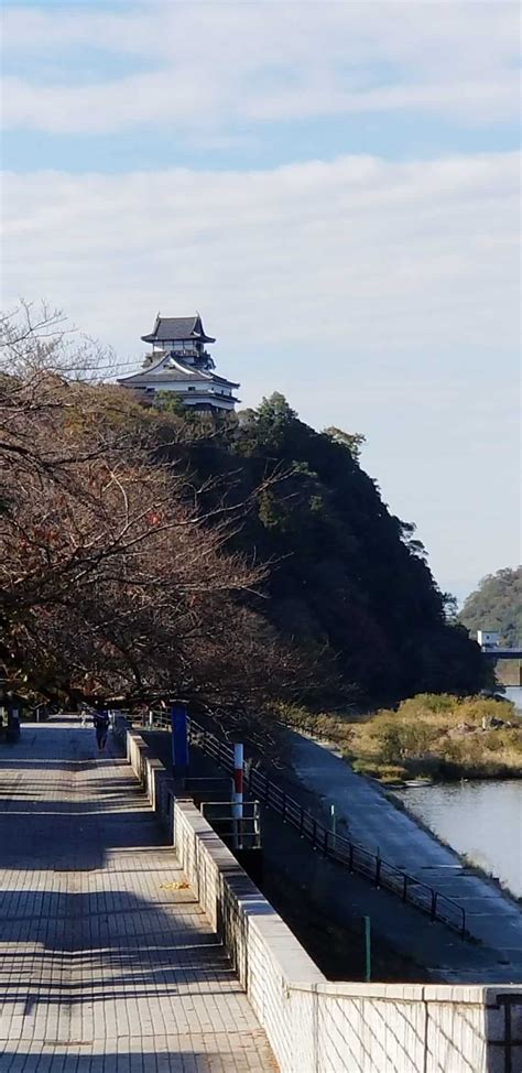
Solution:
M 516 11 L 503 0 L 8 8 L 4 48 L 23 74 L 6 80 L 4 122 L 107 133 L 402 109 L 504 120 L 518 107 Z M 64 64 L 76 50 L 81 67 L 89 48 L 107 53 L 95 84 L 77 84 L 74 71 L 65 85 L 32 79 L 42 55 Z M 119 76 L 120 55 L 145 69 Z

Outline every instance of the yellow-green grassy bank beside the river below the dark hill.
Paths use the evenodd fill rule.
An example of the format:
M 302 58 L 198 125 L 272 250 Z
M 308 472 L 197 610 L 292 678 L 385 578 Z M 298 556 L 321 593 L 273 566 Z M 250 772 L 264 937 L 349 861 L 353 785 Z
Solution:
M 522 713 L 508 700 L 423 693 L 369 715 L 317 715 L 296 705 L 275 714 L 333 743 L 354 771 L 383 783 L 522 778 Z

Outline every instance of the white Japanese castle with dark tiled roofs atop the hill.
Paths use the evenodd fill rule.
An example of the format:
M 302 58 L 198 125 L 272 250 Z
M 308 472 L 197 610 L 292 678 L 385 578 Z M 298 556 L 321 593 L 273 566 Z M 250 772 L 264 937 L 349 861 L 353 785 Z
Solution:
M 214 372 L 206 345 L 216 339 L 205 334 L 198 313 L 195 316 L 157 314 L 153 332 L 141 338 L 152 344 L 152 353 L 146 356 L 141 372 L 118 380 L 120 387 L 132 388 L 149 398 L 156 391 L 168 391 L 184 405 L 202 411 L 230 411 L 240 401 L 233 394 L 239 383 Z

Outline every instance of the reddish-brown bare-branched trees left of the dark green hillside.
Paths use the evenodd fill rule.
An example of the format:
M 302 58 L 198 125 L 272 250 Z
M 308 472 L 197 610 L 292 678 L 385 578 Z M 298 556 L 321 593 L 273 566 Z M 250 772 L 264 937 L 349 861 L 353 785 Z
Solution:
M 205 514 L 186 470 L 157 462 L 157 415 L 51 369 L 57 322 L 39 325 L 13 343 L 11 324 L 18 364 L 0 375 L 7 676 L 47 695 L 221 708 L 295 690 L 298 658 L 244 606 L 267 567 L 228 550 L 244 505 Z

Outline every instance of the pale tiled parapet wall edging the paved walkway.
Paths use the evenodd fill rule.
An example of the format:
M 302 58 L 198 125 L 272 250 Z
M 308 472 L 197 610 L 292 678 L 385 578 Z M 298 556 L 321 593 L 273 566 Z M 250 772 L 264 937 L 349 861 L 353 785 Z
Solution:
M 511 1037 L 522 1040 L 522 986 L 328 983 L 199 811 L 174 798 L 143 739 L 122 725 L 119 733 L 282 1073 L 522 1070 L 522 1045 L 507 1061 L 502 1006 L 513 1002 Z

